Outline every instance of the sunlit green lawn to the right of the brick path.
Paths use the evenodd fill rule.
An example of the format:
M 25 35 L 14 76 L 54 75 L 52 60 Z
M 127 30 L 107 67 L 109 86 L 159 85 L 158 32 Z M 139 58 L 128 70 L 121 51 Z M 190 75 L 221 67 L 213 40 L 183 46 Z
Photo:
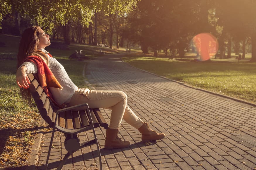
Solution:
M 191 86 L 256 103 L 256 63 L 237 60 L 184 62 L 168 58 L 132 57 L 123 60 L 134 67 L 182 81 Z

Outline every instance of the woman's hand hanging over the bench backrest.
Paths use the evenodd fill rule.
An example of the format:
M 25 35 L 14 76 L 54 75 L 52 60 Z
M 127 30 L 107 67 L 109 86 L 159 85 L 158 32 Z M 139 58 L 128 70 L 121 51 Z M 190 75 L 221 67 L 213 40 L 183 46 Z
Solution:
M 28 84 L 30 84 L 26 71 L 27 67 L 23 65 L 16 72 L 16 82 L 20 88 L 23 87 L 24 89 L 28 89 Z

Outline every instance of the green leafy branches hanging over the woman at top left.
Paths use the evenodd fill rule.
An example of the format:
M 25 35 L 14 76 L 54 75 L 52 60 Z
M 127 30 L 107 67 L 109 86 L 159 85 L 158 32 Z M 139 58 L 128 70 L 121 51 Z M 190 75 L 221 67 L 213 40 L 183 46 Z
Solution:
M 69 21 L 73 23 L 79 22 L 83 26 L 88 26 L 92 22 L 94 10 L 105 11 L 107 14 L 128 13 L 136 6 L 137 1 L 89 1 L 89 0 L 17 0 L 17 1 L 1 1 L 0 5 L 0 22 L 3 15 L 11 13 L 11 8 L 21 13 L 22 17 L 29 16 L 33 23 L 41 26 L 47 32 L 51 32 L 54 25 L 66 25 Z

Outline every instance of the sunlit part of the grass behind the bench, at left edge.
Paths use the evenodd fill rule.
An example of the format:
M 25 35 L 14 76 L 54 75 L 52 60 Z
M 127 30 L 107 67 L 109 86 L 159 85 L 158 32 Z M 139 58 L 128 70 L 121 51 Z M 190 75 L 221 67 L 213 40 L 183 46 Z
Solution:
M 10 64 L 5 60 L 0 67 L 3 63 Z M 0 79 L 4 80 L 0 83 L 0 166 L 24 166 L 40 115 L 35 105 L 29 106 L 21 99 L 14 74 L 1 72 Z

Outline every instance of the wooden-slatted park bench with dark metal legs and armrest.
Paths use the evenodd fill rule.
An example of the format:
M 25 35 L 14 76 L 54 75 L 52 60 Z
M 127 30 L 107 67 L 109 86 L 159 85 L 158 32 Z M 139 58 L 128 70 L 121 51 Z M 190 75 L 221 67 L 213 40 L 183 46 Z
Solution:
M 97 145 L 100 169 L 102 169 L 100 149 L 94 128 L 102 126 L 107 129 L 108 124 L 103 115 L 101 114 L 100 110 L 97 108 L 90 109 L 87 103 L 60 109 L 50 102 L 50 99 L 46 96 L 46 93 L 43 91 L 42 87 L 39 86 L 39 83 L 34 75 L 29 73 L 28 77 L 31 83 L 29 86 L 29 90 L 32 94 L 33 99 L 35 100 L 38 111 L 42 118 L 45 120 L 45 122 L 53 128 L 46 159 L 45 170 L 48 166 L 48 160 L 50 157 L 55 130 L 64 133 L 66 137 L 64 141 L 64 146 L 65 149 L 68 151 L 68 153 L 62 159 L 62 162 L 59 164 L 57 170 L 62 169 L 62 166 L 64 165 L 66 159 L 74 152 L 83 147 L 93 144 Z M 93 130 L 94 139 L 88 140 L 84 143 L 80 143 L 77 134 L 91 129 Z

